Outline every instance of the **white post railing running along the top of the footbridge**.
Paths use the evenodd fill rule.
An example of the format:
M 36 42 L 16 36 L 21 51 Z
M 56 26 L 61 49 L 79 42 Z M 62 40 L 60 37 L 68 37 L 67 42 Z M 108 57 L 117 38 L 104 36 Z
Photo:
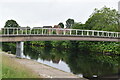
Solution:
M 120 38 L 120 32 L 64 28 L 2 28 L 2 35 L 68 35 Z

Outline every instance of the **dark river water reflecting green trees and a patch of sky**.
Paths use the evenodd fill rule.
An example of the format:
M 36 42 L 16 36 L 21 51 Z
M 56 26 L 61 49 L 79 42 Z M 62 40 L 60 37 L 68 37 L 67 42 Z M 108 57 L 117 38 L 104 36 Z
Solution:
M 93 55 L 75 49 L 59 50 L 35 46 L 25 46 L 24 53 L 38 62 L 76 75 L 82 74 L 85 78 L 118 74 L 118 56 Z

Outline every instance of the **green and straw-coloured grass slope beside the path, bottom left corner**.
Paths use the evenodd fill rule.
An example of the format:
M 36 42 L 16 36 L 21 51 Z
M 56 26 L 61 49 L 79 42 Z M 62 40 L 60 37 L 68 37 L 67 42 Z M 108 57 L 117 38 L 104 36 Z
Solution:
M 6 54 L 2 54 L 2 78 L 39 78 L 39 76 Z

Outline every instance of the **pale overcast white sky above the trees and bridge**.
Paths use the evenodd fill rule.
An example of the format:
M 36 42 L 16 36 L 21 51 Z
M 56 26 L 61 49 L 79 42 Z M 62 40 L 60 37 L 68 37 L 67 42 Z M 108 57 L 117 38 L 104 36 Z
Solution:
M 7 20 L 22 26 L 54 26 L 69 18 L 85 23 L 95 8 L 118 10 L 120 0 L 0 0 L 0 28 Z

